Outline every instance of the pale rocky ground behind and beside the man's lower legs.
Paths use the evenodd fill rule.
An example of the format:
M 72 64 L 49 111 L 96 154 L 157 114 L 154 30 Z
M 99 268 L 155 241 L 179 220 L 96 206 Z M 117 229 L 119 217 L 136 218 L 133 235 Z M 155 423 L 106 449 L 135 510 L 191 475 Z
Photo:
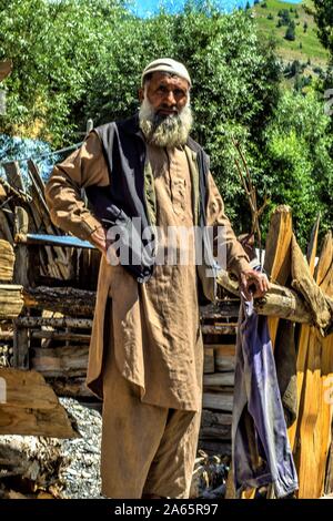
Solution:
M 102 499 L 99 471 L 101 415 L 71 398 L 60 401 L 79 437 L 60 440 L 1 436 L 0 498 Z M 229 463 L 229 457 L 209 457 L 199 451 L 191 497 L 222 499 Z

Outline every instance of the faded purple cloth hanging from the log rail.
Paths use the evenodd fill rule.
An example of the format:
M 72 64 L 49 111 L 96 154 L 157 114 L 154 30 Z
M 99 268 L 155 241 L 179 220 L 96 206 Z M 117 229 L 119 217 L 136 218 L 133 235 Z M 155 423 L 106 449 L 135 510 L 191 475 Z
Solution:
M 278 385 L 268 319 L 242 300 L 232 418 L 236 494 L 273 484 L 276 498 L 299 488 Z

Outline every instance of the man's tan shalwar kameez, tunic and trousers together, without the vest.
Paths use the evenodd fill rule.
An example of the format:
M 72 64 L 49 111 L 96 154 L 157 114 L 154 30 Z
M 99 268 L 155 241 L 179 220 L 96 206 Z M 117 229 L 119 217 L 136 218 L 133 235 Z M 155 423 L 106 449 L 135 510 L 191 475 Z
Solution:
M 157 224 L 164 231 L 195 224 L 189 154 L 193 152 L 183 147 L 148 146 Z M 101 226 L 80 196 L 80 188 L 92 184 L 109 184 L 101 143 L 93 132 L 80 150 L 54 167 L 47 186 L 52 221 L 84 239 Z M 209 194 L 208 224 L 225 226 L 229 269 L 238 274 L 249 268 L 248 259 L 224 215 L 212 176 Z M 182 241 L 178 246 L 184 247 Z M 190 241 L 190 256 L 193 249 Z M 194 263 L 157 265 L 151 279 L 138 284 L 122 266 L 110 266 L 103 256 L 88 385 L 103 395 L 105 496 L 188 497 L 200 426 L 202 361 Z

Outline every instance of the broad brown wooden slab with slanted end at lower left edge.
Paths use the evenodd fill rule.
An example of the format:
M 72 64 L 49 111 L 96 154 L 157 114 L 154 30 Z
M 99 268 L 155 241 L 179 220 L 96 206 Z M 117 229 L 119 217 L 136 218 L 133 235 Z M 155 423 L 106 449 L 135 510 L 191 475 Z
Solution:
M 0 367 L 6 401 L 0 403 L 0 435 L 75 438 L 52 388 L 36 371 Z

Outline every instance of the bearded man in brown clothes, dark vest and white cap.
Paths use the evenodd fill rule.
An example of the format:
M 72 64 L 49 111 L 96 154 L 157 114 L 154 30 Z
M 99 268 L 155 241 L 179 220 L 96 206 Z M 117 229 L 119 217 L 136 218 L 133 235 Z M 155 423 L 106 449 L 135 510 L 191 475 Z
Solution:
M 216 262 L 204 233 L 184 241 L 180 231 L 219 226 L 214 244 L 245 295 L 268 288 L 190 137 L 190 89 L 182 63 L 149 63 L 139 113 L 94 129 L 47 186 L 54 224 L 102 253 L 88 386 L 103 398 L 102 493 L 110 498 L 189 496 L 202 399 L 199 296 L 214 298 Z

